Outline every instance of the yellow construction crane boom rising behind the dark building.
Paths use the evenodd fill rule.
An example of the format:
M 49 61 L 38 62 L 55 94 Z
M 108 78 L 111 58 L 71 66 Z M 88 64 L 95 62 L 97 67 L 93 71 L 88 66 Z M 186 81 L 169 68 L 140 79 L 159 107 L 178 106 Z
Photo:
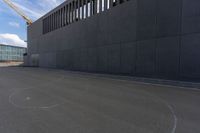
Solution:
M 10 0 L 3 0 L 8 6 L 10 6 L 14 11 L 16 11 L 27 23 L 27 25 L 31 25 L 32 20 L 27 17 L 21 10 L 18 9 Z

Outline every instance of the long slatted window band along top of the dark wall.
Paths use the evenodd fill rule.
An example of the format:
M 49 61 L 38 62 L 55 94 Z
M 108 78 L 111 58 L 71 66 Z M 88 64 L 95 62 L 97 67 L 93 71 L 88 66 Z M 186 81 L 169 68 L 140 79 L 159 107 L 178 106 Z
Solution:
M 129 0 L 126 0 L 129 1 Z M 111 9 L 125 0 L 74 0 L 43 19 L 43 34 Z

